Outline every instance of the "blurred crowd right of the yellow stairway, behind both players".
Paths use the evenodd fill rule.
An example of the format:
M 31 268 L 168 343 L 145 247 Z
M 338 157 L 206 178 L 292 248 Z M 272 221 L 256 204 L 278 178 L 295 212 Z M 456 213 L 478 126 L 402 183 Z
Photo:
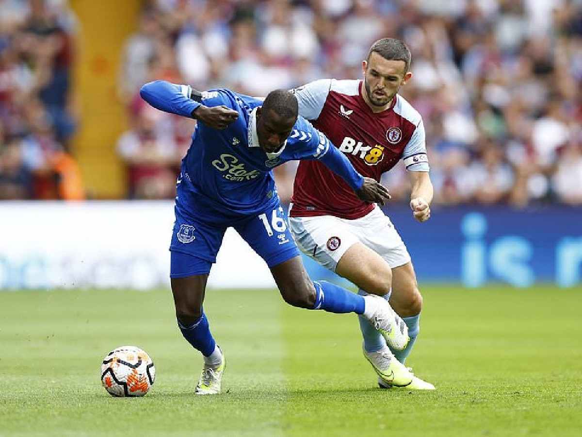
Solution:
M 136 164 L 121 143 L 143 135 L 136 95 L 147 80 L 264 96 L 322 77 L 360 78 L 381 37 L 404 40 L 413 54 L 401 93 L 423 115 L 435 202 L 582 203 L 576 187 L 565 189 L 577 181 L 582 142 L 581 0 L 150 0 L 126 45 L 122 93 L 137 130 L 119 150 Z M 183 156 L 194 124 L 160 117 L 156 140 L 133 140 L 133 149 L 150 150 L 161 175 Z M 275 171 L 283 200 L 294 170 Z M 134 196 L 171 195 L 146 194 L 133 178 Z M 407 202 L 402 166 L 383 181 L 393 202 Z

